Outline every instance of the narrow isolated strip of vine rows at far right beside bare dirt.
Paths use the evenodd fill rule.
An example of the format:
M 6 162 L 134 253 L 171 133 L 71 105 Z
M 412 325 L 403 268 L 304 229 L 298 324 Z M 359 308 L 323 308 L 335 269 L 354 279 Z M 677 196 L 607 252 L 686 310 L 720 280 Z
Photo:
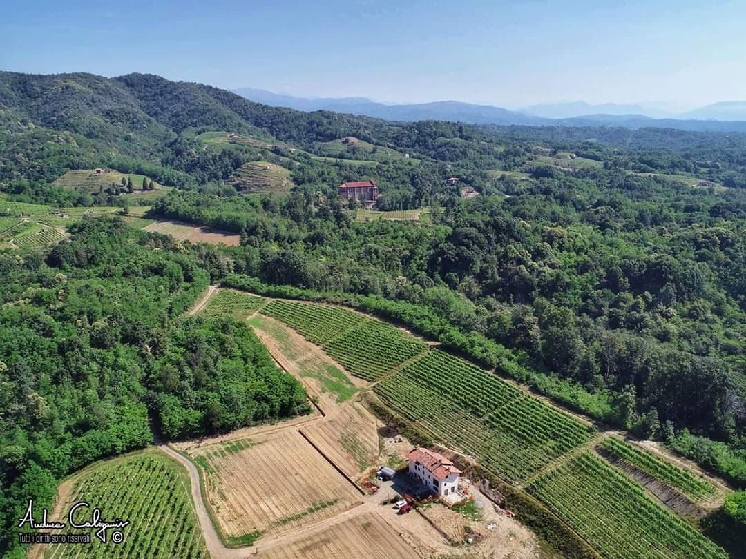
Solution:
M 686 470 L 674 466 L 652 452 L 637 448 L 618 438 L 609 437 L 601 443 L 601 448 L 621 461 L 647 473 L 662 483 L 679 490 L 692 499 L 706 499 L 715 495 L 715 486 L 703 479 L 697 479 Z

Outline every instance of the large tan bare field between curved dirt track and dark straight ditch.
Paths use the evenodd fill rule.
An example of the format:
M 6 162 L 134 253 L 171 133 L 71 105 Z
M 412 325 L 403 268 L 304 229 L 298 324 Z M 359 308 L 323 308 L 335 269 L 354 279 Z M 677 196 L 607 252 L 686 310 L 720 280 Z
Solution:
M 189 455 L 204 473 L 207 501 L 229 543 L 293 531 L 362 502 L 295 430 L 201 446 Z

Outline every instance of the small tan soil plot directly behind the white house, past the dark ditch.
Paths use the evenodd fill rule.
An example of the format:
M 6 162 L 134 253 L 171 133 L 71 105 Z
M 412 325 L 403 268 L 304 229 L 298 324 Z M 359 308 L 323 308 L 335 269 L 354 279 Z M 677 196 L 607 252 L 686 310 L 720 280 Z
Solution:
M 352 479 L 358 479 L 373 466 L 380 453 L 377 420 L 360 402 L 301 430 Z

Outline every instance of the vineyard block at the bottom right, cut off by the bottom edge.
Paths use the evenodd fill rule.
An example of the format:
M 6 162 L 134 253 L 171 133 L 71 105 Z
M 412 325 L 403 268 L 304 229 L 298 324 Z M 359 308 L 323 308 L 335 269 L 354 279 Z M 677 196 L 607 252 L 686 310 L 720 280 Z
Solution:
M 723 549 L 653 502 L 590 452 L 528 490 L 609 559 L 727 559 Z

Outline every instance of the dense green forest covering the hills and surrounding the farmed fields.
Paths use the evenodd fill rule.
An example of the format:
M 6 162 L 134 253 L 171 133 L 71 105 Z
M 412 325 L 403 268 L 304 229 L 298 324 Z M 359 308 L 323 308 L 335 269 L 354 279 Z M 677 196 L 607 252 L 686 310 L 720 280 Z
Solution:
M 232 177 L 259 161 L 292 190 L 245 195 Z M 746 134 L 392 123 L 152 75 L 0 73 L 4 199 L 127 205 L 51 184 L 96 167 L 177 187 L 152 215 L 241 244 L 89 219 L 51 250 L 0 251 L 4 525 L 31 485 L 49 498 L 150 443 L 148 420 L 178 438 L 304 411 L 245 326 L 180 318 L 208 282 L 412 324 L 746 485 Z M 377 209 L 427 221 L 356 221 L 336 186 L 368 178 Z

